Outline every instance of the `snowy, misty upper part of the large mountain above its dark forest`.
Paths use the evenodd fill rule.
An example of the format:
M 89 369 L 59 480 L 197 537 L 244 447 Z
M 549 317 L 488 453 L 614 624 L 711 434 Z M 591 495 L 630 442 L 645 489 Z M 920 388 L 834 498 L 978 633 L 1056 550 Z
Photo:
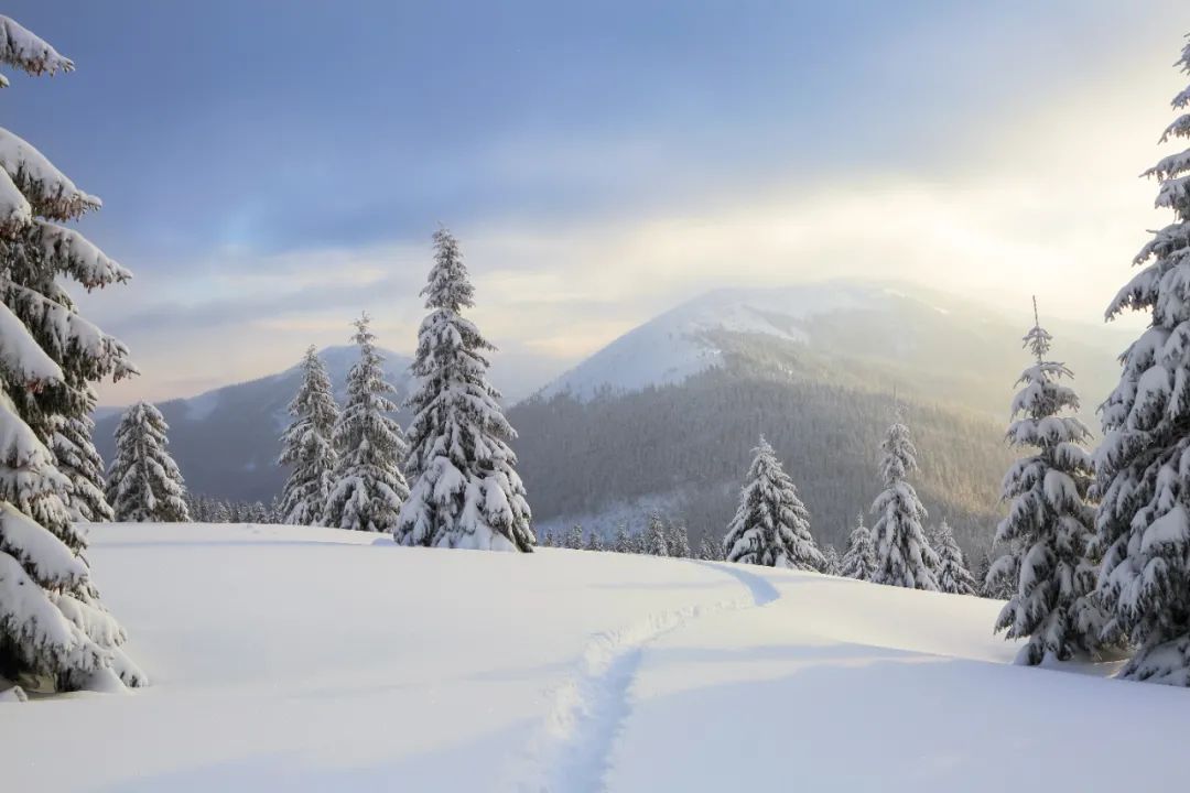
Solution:
M 732 354 L 760 346 L 798 348 L 803 365 L 853 380 L 883 383 L 929 401 L 963 404 L 997 420 L 1027 363 L 1020 339 L 1032 325 L 1026 303 L 1004 314 L 907 284 L 826 282 L 787 288 L 722 289 L 630 331 L 538 392 L 539 398 L 639 391 L 724 369 Z M 1113 327 L 1047 321 L 1054 354 L 1082 384 L 1091 414 L 1119 377 L 1115 355 L 1129 334 Z

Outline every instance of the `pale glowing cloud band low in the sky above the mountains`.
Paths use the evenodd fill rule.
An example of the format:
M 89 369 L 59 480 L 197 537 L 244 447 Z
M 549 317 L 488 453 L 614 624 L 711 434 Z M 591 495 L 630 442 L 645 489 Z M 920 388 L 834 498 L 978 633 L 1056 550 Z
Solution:
M 718 287 L 904 279 L 1021 316 L 1036 294 L 1052 315 L 1096 322 L 1129 276 L 1145 229 L 1169 222 L 1152 209 L 1154 185 L 1136 174 L 1163 153 L 1151 144 L 1184 84 L 1169 68 L 1172 51 L 1136 37 L 1097 52 L 1094 80 L 1021 83 L 985 114 L 957 106 L 928 158 L 881 162 L 877 149 L 847 157 L 823 141 L 831 156 L 821 166 L 801 164 L 816 150 L 774 163 L 762 180 L 708 166 L 700 189 L 651 194 L 619 210 L 537 214 L 514 201 L 507 212 L 463 213 L 455 231 L 477 287 L 474 319 L 505 350 L 495 375 L 509 392 L 532 390 Z M 660 172 L 647 170 L 654 141 L 621 140 L 614 162 Z M 615 169 L 596 144 L 543 143 L 527 181 L 580 190 L 601 169 L 607 180 Z M 515 177 L 530 149 L 508 144 L 487 176 Z M 411 351 L 431 232 L 427 221 L 419 237 L 382 244 L 278 254 L 228 246 L 145 268 L 132 285 L 86 306 L 146 372 L 105 391 L 105 401 L 186 394 L 176 384 L 187 372 L 230 380 L 276 371 L 307 344 L 343 344 L 361 309 L 376 317 L 386 346 Z

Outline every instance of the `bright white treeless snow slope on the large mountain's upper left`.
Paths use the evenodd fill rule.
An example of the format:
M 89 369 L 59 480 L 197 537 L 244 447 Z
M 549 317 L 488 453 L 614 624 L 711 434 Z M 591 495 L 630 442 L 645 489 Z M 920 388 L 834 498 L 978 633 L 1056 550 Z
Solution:
M 721 352 L 708 334 L 757 333 L 804 342 L 798 321 L 879 306 L 885 291 L 845 283 L 712 291 L 630 331 L 540 394 L 546 398 L 571 394 L 582 399 L 602 389 L 626 392 L 679 383 L 720 365 Z

